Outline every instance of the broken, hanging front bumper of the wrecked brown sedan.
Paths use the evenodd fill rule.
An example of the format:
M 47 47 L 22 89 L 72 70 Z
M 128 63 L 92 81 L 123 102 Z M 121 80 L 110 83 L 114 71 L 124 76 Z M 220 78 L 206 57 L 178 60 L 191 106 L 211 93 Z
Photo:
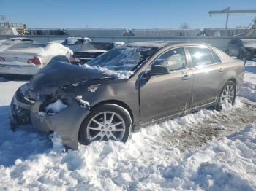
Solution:
M 31 124 L 34 128 L 50 132 L 55 131 L 61 136 L 62 143 L 71 149 L 78 149 L 78 132 L 83 119 L 89 110 L 82 108 L 77 101 L 56 114 L 40 112 L 44 99 L 31 101 L 26 98 L 26 87 L 20 87 L 12 98 L 10 106 L 10 119 L 17 126 Z M 30 102 L 29 102 L 30 101 Z

